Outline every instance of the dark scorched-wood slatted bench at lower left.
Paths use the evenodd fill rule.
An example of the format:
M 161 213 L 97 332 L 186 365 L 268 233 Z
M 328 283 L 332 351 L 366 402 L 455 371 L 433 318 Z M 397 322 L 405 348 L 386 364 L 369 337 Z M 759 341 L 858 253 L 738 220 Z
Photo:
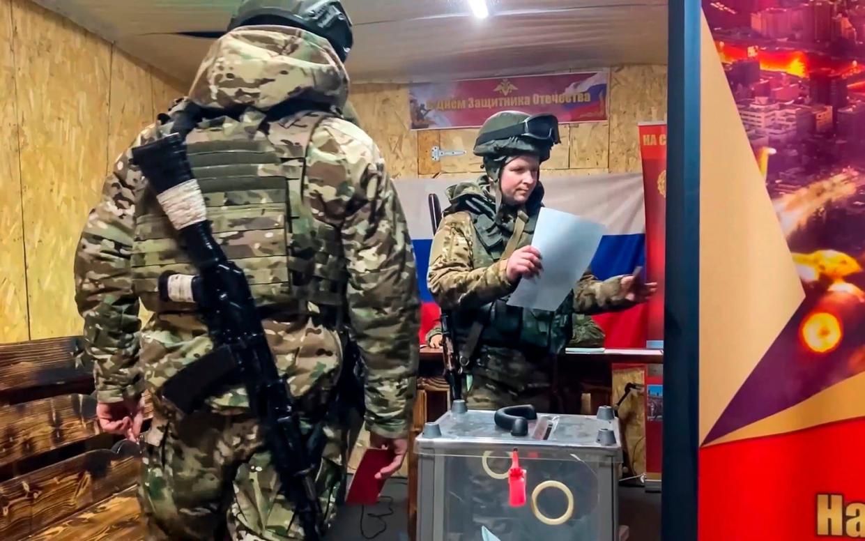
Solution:
M 0 345 L 4 541 L 144 538 L 138 446 L 99 430 L 79 352 L 77 338 Z

